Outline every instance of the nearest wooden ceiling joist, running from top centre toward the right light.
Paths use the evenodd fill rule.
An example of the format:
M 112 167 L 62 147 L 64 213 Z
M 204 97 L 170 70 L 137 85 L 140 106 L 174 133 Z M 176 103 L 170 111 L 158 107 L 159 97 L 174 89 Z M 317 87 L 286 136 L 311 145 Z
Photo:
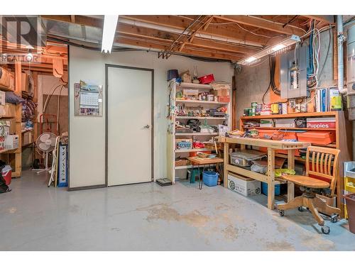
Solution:
M 215 18 L 219 18 L 224 21 L 241 23 L 248 26 L 253 26 L 256 28 L 263 28 L 264 30 L 274 31 L 276 33 L 283 33 L 287 35 L 303 35 L 304 31 L 300 28 L 295 28 L 293 26 L 285 26 L 282 24 L 275 23 L 273 21 L 266 21 L 261 18 L 256 18 L 253 16 L 214 16 Z

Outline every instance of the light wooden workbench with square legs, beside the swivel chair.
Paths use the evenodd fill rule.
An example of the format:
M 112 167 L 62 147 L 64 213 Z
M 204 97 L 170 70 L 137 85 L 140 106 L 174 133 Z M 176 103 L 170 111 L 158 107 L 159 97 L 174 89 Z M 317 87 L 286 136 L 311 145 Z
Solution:
M 224 143 L 224 187 L 228 185 L 228 172 L 241 174 L 244 177 L 250 177 L 268 184 L 268 209 L 274 209 L 275 201 L 275 150 L 288 150 L 288 169 L 295 168 L 295 150 L 307 148 L 310 143 L 286 142 L 280 140 L 266 140 L 259 138 L 227 138 L 219 137 L 217 141 Z M 263 147 L 268 149 L 268 171 L 267 174 L 260 174 L 246 170 L 242 167 L 231 165 L 229 163 L 229 144 L 241 145 L 241 150 L 246 149 L 246 145 Z M 288 182 L 288 201 L 295 196 L 295 187 L 292 182 Z

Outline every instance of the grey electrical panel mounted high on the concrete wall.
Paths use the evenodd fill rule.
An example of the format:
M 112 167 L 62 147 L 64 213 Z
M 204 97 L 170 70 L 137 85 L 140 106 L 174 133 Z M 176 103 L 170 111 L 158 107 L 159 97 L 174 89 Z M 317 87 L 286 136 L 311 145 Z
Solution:
M 307 45 L 280 57 L 281 98 L 307 96 Z

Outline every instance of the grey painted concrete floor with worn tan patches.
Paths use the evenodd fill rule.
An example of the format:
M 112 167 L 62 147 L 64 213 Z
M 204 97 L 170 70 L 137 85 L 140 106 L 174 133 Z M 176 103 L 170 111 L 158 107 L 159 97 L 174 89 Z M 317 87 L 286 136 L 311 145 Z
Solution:
M 223 187 L 178 182 L 67 192 L 23 172 L 0 194 L 0 250 L 355 250 L 346 221 L 322 235 L 307 211 L 284 217 Z

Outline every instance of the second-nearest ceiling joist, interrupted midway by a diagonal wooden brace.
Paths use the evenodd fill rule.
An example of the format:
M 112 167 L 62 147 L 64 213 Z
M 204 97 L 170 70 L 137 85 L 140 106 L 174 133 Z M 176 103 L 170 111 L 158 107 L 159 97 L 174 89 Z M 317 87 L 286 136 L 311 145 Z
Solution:
M 131 21 L 140 21 L 145 23 L 152 23 L 158 26 L 165 26 L 184 30 L 189 26 L 193 19 L 182 18 L 179 16 L 119 16 L 120 18 L 126 18 Z M 226 40 L 239 40 L 249 45 L 265 45 L 270 38 L 266 38 L 260 35 L 253 35 L 247 31 L 242 30 L 239 27 L 231 27 L 225 24 L 210 23 L 205 31 L 201 31 L 201 34 L 213 35 L 219 38 L 225 38 Z M 197 34 L 198 36 L 198 34 Z

